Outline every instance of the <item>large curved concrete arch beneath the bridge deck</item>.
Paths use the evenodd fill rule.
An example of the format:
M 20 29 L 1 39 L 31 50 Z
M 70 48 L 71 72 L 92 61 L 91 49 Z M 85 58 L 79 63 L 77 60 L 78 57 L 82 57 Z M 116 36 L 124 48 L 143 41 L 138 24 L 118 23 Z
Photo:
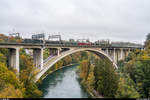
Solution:
M 117 69 L 117 65 L 115 64 L 115 62 L 111 59 L 111 57 L 109 57 L 104 51 L 102 51 L 101 49 L 99 48 L 71 48 L 70 50 L 64 52 L 64 53 L 61 53 L 59 56 L 56 56 L 54 58 L 52 58 L 51 61 L 49 61 L 49 63 L 47 64 L 44 64 L 44 66 L 47 65 L 47 67 L 44 67 L 36 76 L 36 81 L 38 79 L 40 79 L 40 77 L 50 68 L 52 67 L 55 63 L 57 63 L 58 61 L 60 61 L 61 59 L 63 59 L 64 57 L 68 56 L 68 55 L 71 55 L 73 53 L 76 53 L 76 52 L 80 52 L 80 51 L 89 51 L 89 52 L 92 52 L 96 55 L 98 55 L 99 57 L 102 57 L 102 58 L 107 58 L 110 62 L 112 62 L 113 66 L 115 69 Z

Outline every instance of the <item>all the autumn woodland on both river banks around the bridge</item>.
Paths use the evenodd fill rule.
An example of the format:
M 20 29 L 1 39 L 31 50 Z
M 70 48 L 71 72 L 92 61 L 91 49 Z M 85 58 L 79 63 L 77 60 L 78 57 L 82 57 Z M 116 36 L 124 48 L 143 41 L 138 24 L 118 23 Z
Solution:
M 0 41 L 5 35 L 0 34 Z M 5 38 L 4 38 L 5 37 Z M 11 41 L 21 41 L 11 37 Z M 90 52 L 77 52 L 65 57 L 45 74 L 69 64 L 80 64 L 78 74 L 81 84 L 91 93 L 96 91 L 104 98 L 148 98 L 150 97 L 150 34 L 147 35 L 144 50 L 130 52 L 125 60 L 118 62 L 118 69 L 107 58 L 100 58 Z M 20 74 L 8 65 L 8 49 L 0 49 L 0 98 L 38 98 L 42 92 L 34 83 L 38 70 L 33 58 L 20 49 Z M 44 50 L 44 59 L 49 55 Z M 42 82 L 42 81 L 41 81 Z M 39 82 L 40 83 L 40 82 Z M 94 93 L 93 93 L 94 94 Z

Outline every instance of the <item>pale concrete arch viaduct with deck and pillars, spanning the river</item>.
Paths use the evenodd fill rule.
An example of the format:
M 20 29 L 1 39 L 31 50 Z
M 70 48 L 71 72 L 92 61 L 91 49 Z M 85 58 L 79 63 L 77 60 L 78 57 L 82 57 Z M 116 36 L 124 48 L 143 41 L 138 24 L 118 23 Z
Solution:
M 99 47 L 99 46 L 72 46 L 72 45 L 43 45 L 43 44 L 29 44 L 29 43 L 0 43 L 0 48 L 8 48 L 9 66 L 15 68 L 19 72 L 19 50 L 32 49 L 33 62 L 35 67 L 40 71 L 36 75 L 36 81 L 56 62 L 64 57 L 79 52 L 89 51 L 95 53 L 101 58 L 109 59 L 115 68 L 117 68 L 117 61 L 123 60 L 130 51 L 135 49 L 143 49 L 142 47 Z M 48 48 L 50 55 L 47 59 L 43 60 L 44 48 Z

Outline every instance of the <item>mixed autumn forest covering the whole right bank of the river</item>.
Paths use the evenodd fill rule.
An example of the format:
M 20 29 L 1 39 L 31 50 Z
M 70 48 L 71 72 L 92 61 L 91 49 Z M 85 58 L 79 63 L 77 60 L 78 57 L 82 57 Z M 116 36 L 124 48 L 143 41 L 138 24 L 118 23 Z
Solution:
M 118 62 L 118 69 L 108 59 L 90 56 L 79 66 L 82 84 L 91 93 L 97 91 L 105 98 L 149 98 L 150 97 L 150 33 L 146 37 L 144 50 L 130 52 L 125 60 Z

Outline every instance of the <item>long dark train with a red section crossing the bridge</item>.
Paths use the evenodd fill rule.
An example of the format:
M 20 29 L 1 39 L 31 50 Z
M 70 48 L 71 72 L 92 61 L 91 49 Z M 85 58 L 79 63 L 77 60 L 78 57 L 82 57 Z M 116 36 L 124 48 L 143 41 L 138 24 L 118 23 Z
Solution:
M 40 43 L 43 44 L 43 40 L 38 39 L 24 39 L 22 43 Z M 90 41 L 50 41 L 45 40 L 45 44 L 56 44 L 56 45 L 74 45 L 74 46 L 110 46 L 111 44 L 109 41 L 96 41 L 96 42 L 90 42 Z

